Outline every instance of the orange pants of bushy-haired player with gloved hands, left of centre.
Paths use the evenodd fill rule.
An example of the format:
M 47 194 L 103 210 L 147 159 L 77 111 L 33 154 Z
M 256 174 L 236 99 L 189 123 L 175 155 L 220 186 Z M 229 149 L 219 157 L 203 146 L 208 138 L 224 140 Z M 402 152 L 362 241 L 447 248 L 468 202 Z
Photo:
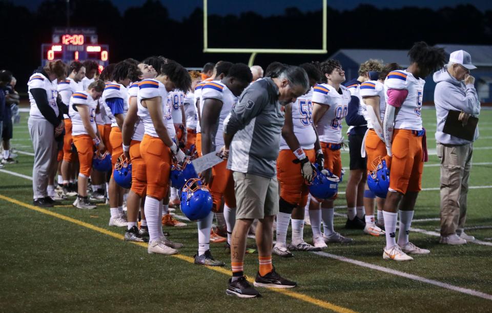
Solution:
M 144 135 L 140 155 L 146 164 L 147 195 L 162 200 L 169 192 L 171 150 L 158 137 Z

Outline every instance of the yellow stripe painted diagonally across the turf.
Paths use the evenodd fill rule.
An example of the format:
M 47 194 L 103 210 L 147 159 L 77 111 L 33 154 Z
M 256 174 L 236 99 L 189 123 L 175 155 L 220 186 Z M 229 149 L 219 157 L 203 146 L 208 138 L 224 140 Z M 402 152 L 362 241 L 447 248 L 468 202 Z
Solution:
M 95 230 L 95 231 L 100 232 L 100 233 L 107 234 L 108 236 L 111 236 L 111 237 L 116 238 L 116 239 L 119 239 L 119 240 L 123 240 L 124 239 L 124 236 L 122 234 L 120 234 L 120 233 L 116 233 L 116 232 L 113 232 L 113 231 L 108 230 L 108 229 L 105 229 L 105 228 L 97 227 L 95 225 L 92 225 L 92 224 L 89 224 L 89 223 L 86 223 L 86 222 L 83 222 L 83 221 L 72 219 L 72 218 L 70 218 L 68 216 L 65 216 L 63 214 L 55 213 L 55 212 L 52 212 L 52 211 L 47 210 L 47 209 L 36 207 L 34 205 L 27 204 L 27 203 L 24 203 L 24 202 L 15 200 L 13 198 L 6 197 L 5 195 L 2 195 L 2 194 L 0 194 L 0 199 L 3 199 L 5 201 L 8 201 L 8 202 L 13 203 L 13 204 L 17 204 L 17 205 L 23 206 L 25 208 L 28 208 L 28 209 L 31 209 L 31 210 L 34 210 L 34 211 L 38 211 L 40 213 L 44 213 L 44 214 L 50 215 L 52 217 L 55 217 L 55 218 L 58 218 L 58 219 L 61 219 L 61 220 L 67 221 L 67 222 L 71 222 L 71 223 L 77 224 L 79 226 L 83 226 L 83 227 L 86 227 L 86 228 Z M 146 243 L 133 242 L 133 241 L 131 241 L 130 243 L 135 244 L 135 245 L 138 245 L 138 246 L 141 246 L 141 247 L 144 247 L 144 248 L 147 248 L 147 244 Z M 191 258 L 191 257 L 185 256 L 185 255 L 172 255 L 171 257 L 174 257 L 174 258 L 177 258 L 177 259 L 186 261 L 188 263 L 194 264 L 194 259 Z M 206 268 L 215 270 L 215 271 L 217 271 L 219 273 L 222 273 L 224 275 L 227 275 L 227 276 L 230 276 L 231 275 L 231 271 L 228 270 L 228 269 L 225 269 L 223 267 L 208 267 L 207 266 Z M 251 278 L 248 279 L 248 281 L 250 283 L 253 283 L 253 280 Z M 299 299 L 299 300 L 302 300 L 302 301 L 305 301 L 305 302 L 308 302 L 308 303 L 317 305 L 317 306 L 322 307 L 322 308 L 325 308 L 325 309 L 330 309 L 330 310 L 333 310 L 335 312 L 355 313 L 355 311 L 353 311 L 353 310 L 351 310 L 349 308 L 346 308 L 346 307 L 343 307 L 343 306 L 338 306 L 338 305 L 335 305 L 333 303 L 326 302 L 326 301 L 323 301 L 323 300 L 319 300 L 319 299 L 316 299 L 316 298 L 313 298 L 313 297 L 310 297 L 310 296 L 306 296 L 306 295 L 303 295 L 303 294 L 299 294 L 298 292 L 291 291 L 289 289 L 269 288 L 269 290 L 278 292 L 279 294 L 283 294 L 283 295 L 289 296 L 291 298 Z

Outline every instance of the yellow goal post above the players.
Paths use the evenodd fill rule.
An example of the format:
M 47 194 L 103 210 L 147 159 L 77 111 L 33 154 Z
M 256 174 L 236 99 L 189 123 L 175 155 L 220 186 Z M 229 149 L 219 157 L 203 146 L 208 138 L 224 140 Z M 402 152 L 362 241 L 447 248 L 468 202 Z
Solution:
M 325 54 L 326 50 L 326 0 L 323 3 L 323 47 L 321 49 L 261 49 L 261 48 L 209 48 L 208 38 L 208 0 L 203 0 L 203 52 L 204 53 L 251 53 L 249 66 L 253 66 L 258 53 L 303 53 Z

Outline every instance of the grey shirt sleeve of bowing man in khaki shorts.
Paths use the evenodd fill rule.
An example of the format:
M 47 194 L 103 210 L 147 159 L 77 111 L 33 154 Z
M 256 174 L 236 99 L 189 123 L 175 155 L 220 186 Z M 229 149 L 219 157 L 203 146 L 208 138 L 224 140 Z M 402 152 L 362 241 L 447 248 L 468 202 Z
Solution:
M 233 135 L 243 129 L 267 104 L 268 94 L 265 90 L 248 88 L 224 121 L 224 133 Z

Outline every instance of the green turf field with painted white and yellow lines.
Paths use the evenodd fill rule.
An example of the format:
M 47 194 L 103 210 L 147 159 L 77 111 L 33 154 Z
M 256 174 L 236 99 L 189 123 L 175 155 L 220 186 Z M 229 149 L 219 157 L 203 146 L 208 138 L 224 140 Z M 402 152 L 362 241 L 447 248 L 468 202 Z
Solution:
M 226 261 L 225 268 L 213 270 L 190 263 L 197 249 L 195 223 L 166 229 L 171 232 L 170 239 L 185 243 L 181 255 L 169 257 L 149 255 L 144 246 L 124 242 L 125 230 L 108 226 L 108 206 L 84 211 L 74 209 L 72 200 L 64 207 L 34 210 L 29 180 L 33 149 L 28 113 L 23 113 L 12 141 L 19 151 L 19 163 L 0 170 L 4 225 L 0 236 L 0 311 L 490 311 L 492 110 L 480 115 L 481 138 L 475 144 L 469 184 L 473 189 L 468 194 L 470 229 L 466 232 L 480 242 L 457 247 L 439 245 L 435 236 L 439 190 L 426 190 L 439 187 L 435 111 L 423 110 L 422 115 L 432 150 L 412 225 L 417 230 L 411 232 L 410 239 L 430 249 L 430 255 L 417 256 L 412 262 L 384 261 L 383 237 L 345 230 L 345 218 L 337 216 L 335 229 L 354 238 L 353 244 L 329 245 L 318 254 L 294 252 L 292 259 L 274 256 L 277 270 L 299 286 L 280 292 L 260 289 L 263 298 L 240 300 L 225 293 L 230 259 L 223 244 L 212 244 L 211 250 L 216 259 Z M 343 166 L 348 166 L 348 153 L 342 157 Z M 348 175 L 340 191 L 347 179 Z M 344 213 L 344 205 L 341 194 L 336 211 Z M 419 221 L 423 219 L 432 220 Z M 304 238 L 311 242 L 309 226 Z M 257 264 L 256 254 L 247 255 L 248 277 L 254 278 Z

